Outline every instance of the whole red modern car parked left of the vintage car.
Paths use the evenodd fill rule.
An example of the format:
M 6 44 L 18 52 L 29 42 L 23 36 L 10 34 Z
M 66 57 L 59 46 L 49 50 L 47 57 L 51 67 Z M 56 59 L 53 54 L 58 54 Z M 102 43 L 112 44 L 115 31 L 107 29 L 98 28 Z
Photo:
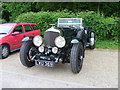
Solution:
M 0 24 L 0 59 L 20 49 L 23 44 L 22 39 L 36 35 L 41 35 L 41 31 L 35 23 Z

